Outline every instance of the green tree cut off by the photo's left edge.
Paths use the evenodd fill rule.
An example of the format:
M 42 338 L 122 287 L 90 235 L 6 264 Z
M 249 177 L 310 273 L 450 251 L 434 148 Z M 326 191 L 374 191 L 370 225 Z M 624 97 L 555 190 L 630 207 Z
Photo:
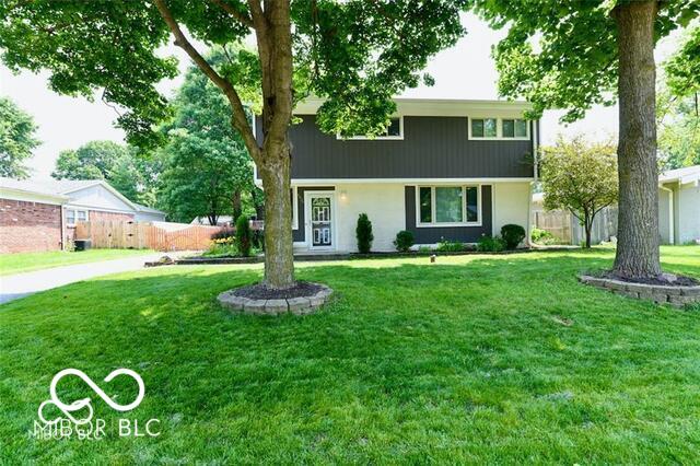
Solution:
M 7 97 L 0 97 L 0 176 L 26 178 L 25 165 L 39 145 L 32 116 Z

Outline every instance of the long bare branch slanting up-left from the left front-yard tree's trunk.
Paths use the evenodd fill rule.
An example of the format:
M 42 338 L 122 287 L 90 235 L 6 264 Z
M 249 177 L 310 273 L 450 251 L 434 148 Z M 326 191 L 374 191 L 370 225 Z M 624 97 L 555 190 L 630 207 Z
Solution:
M 187 37 L 185 37 L 185 34 L 177 24 L 177 21 L 175 21 L 173 14 L 165 5 L 165 1 L 154 0 L 154 2 L 155 7 L 161 13 L 161 16 L 163 16 L 165 24 L 167 24 L 171 32 L 175 36 L 175 45 L 185 50 L 185 53 L 195 61 L 197 67 L 207 75 L 207 78 L 209 78 L 209 80 L 213 82 L 219 89 L 221 89 L 225 94 L 233 112 L 232 125 L 243 137 L 243 141 L 245 142 L 248 152 L 250 152 L 250 156 L 253 158 L 253 160 L 256 163 L 260 163 L 260 148 L 255 140 L 255 135 L 253 133 L 253 129 L 250 128 L 250 124 L 248 123 L 248 118 L 245 114 L 245 108 L 243 107 L 243 103 L 241 102 L 238 93 L 229 81 L 223 79 L 217 72 L 217 70 L 214 70 L 211 65 L 207 62 L 205 57 L 202 57 L 197 51 L 197 49 L 189 43 L 189 40 L 187 40 Z

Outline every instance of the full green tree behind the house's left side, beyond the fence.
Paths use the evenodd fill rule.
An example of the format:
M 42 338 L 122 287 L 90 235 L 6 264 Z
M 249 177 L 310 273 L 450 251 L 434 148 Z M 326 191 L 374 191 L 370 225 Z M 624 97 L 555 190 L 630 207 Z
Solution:
M 226 46 L 208 59 L 219 66 L 225 55 L 241 50 Z M 244 194 L 249 195 L 255 188 L 253 160 L 228 120 L 231 112 L 225 97 L 199 68 L 192 67 L 173 106 L 175 118 L 162 128 L 168 139 L 162 151 L 162 206 L 172 218 L 187 222 L 207 217 L 217 224 L 223 213 L 240 217 Z

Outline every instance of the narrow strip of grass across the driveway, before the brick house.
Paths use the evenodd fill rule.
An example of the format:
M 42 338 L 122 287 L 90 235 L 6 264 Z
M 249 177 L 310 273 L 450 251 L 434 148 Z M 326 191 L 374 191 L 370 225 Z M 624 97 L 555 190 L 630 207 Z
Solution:
M 46 253 L 0 254 L 0 276 L 22 273 L 74 264 L 152 254 L 150 249 L 88 249 L 79 252 L 49 251 Z

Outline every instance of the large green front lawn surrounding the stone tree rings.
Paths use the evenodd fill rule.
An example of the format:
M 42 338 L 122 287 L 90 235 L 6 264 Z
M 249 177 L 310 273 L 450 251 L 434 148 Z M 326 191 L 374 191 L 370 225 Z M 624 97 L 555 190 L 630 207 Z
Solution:
M 700 312 L 576 282 L 612 251 L 308 263 L 336 290 L 306 317 L 232 315 L 259 266 L 104 277 L 0 306 L 0 458 L 81 464 L 700 462 Z M 700 277 L 699 247 L 665 247 Z M 101 441 L 32 439 L 51 377 L 136 410 Z M 162 421 L 119 438 L 120 417 Z

